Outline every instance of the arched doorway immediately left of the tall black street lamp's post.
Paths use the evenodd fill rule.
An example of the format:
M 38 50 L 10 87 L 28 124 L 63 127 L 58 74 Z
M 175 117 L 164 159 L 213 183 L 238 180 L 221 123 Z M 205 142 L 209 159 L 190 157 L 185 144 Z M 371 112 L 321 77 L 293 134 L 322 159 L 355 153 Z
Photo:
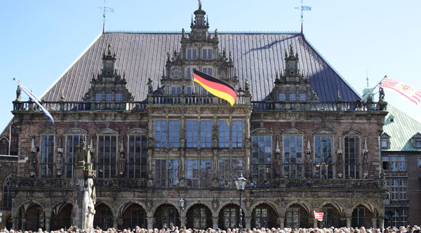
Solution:
M 218 213 L 218 226 L 221 229 L 227 228 L 234 228 L 239 227 L 239 219 L 240 219 L 240 207 L 237 204 L 227 204 L 224 206 L 220 213 Z M 243 227 L 246 226 L 244 222 L 244 211 L 241 211 L 243 214 Z

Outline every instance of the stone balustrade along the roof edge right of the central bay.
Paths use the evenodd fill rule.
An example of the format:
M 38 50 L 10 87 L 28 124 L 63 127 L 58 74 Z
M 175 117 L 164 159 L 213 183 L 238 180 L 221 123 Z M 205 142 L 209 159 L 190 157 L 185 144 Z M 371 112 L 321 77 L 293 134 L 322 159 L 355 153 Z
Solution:
M 386 110 L 386 104 L 378 102 L 286 102 L 252 101 L 253 110 L 279 111 L 375 111 Z

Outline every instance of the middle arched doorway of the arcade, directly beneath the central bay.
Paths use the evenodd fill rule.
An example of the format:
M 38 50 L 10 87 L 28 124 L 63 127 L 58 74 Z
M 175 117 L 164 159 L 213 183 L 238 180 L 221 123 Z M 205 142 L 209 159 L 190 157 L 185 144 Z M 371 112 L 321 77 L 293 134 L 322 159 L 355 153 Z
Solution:
M 212 227 L 212 212 L 208 206 L 195 204 L 186 213 L 187 228 L 207 229 Z

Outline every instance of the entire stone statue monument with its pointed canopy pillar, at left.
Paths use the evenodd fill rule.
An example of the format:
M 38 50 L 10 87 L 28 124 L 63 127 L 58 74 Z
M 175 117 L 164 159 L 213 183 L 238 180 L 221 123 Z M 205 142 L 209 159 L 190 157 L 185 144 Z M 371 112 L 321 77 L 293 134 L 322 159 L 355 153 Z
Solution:
M 91 148 L 83 139 L 76 147 L 76 166 L 74 168 L 73 222 L 79 229 L 93 229 L 95 215 L 95 171 L 91 164 Z

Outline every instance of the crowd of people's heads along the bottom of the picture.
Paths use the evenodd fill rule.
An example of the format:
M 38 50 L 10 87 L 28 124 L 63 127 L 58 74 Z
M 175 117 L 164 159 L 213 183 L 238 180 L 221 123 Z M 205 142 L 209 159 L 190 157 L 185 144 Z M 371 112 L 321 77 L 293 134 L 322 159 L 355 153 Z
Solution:
M 29 231 L 22 231 L 22 230 L 13 230 L 13 229 L 4 229 L 1 230 L 4 233 L 48 233 L 43 229 L 38 229 L 36 232 Z M 49 233 L 240 233 L 240 229 L 233 228 L 233 229 L 226 229 L 222 230 L 219 228 L 212 229 L 190 229 L 186 227 L 171 227 L 166 229 L 145 229 L 141 227 L 135 227 L 133 229 L 115 229 L 109 228 L 107 230 L 104 229 L 59 229 L 55 231 L 51 231 Z M 360 227 L 360 228 L 348 228 L 348 227 L 330 227 L 330 228 L 253 228 L 253 229 L 243 229 L 241 233 L 421 233 L 421 228 L 417 225 L 410 227 L 387 227 L 387 228 L 368 228 Z

